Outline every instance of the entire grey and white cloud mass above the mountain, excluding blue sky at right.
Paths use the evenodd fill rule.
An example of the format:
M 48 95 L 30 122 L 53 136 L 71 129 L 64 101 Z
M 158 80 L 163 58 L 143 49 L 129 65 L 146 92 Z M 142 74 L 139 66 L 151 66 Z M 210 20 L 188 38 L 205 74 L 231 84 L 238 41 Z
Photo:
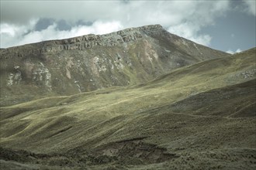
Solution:
M 3 1 L 1 47 L 150 24 L 161 24 L 171 33 L 209 46 L 211 36 L 200 30 L 214 25 L 229 8 L 230 2 L 222 0 Z

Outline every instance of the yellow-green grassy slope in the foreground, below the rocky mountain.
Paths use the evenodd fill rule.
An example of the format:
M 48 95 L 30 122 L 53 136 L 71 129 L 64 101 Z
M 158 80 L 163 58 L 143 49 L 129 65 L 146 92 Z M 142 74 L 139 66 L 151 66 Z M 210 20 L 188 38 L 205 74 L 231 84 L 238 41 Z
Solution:
M 179 156 L 128 168 L 255 168 L 255 50 L 186 66 L 140 86 L 2 107 L 1 145 L 102 155 L 118 148 L 116 141 L 140 138 Z

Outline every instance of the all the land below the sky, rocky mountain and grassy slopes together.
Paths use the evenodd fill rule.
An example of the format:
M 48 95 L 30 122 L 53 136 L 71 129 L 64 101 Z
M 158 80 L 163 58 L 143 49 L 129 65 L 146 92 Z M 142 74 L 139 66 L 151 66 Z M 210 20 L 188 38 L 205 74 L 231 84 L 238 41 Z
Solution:
M 228 55 L 161 26 L 100 37 L 1 50 L 2 169 L 256 168 L 256 48 Z

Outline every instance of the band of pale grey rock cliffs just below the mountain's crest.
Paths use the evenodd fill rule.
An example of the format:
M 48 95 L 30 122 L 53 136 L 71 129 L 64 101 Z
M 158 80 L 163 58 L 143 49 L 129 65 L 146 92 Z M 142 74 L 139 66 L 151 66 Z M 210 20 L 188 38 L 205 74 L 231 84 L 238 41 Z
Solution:
M 8 53 L 14 53 L 14 56 L 11 57 L 22 57 L 28 54 L 38 54 L 38 53 L 58 53 L 63 50 L 86 50 L 91 49 L 94 46 L 116 46 L 124 42 L 132 42 L 137 39 L 143 38 L 141 31 L 151 31 L 156 32 L 157 30 L 163 29 L 160 25 L 151 25 L 151 26 L 141 26 L 138 28 L 123 29 L 118 32 L 112 32 L 106 35 L 94 35 L 89 34 L 85 36 L 78 36 L 71 39 L 61 39 L 61 40 L 50 40 L 46 42 L 37 43 L 39 48 L 36 49 L 27 49 L 26 51 L 17 50 L 17 47 L 12 47 L 9 49 L 4 49 L 2 56 L 7 55 Z M 6 57 L 6 56 L 5 56 Z

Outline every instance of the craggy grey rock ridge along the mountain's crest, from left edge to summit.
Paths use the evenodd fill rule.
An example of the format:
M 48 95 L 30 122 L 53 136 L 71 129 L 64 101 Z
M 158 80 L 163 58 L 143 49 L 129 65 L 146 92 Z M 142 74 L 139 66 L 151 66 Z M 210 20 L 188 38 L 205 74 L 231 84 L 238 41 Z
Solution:
M 68 50 L 68 49 L 88 49 L 92 48 L 93 46 L 116 46 L 116 42 L 122 43 L 122 42 L 129 42 L 130 40 L 135 40 L 137 38 L 141 38 L 141 35 L 139 31 L 141 30 L 157 30 L 157 29 L 163 29 L 160 25 L 150 25 L 150 26 L 140 26 L 140 27 L 134 27 L 134 28 L 128 28 L 128 29 L 122 29 L 116 32 L 110 32 L 103 35 L 95 35 L 95 34 L 88 34 L 85 36 L 76 36 L 71 37 L 67 39 L 52 39 L 52 40 L 46 40 L 43 42 L 34 42 L 25 44 L 22 46 L 27 45 L 39 45 L 43 46 L 42 49 L 38 49 L 39 53 L 46 53 L 46 52 L 60 52 L 61 50 Z M 128 35 L 126 35 L 127 33 Z M 113 39 L 113 36 L 116 36 L 116 39 Z M 79 46 L 72 46 L 72 44 L 75 44 L 77 42 L 83 42 L 83 46 L 79 44 Z M 102 43 L 103 42 L 103 43 Z M 50 47 L 50 45 L 56 45 L 54 47 Z M 71 45 L 71 46 L 70 46 Z M 22 46 L 13 46 L 9 48 L 5 48 L 7 51 L 16 50 L 18 47 Z M 3 49 L 3 50 L 5 50 Z M 30 50 L 27 53 L 34 53 L 34 50 Z M 22 56 L 22 53 L 18 53 L 17 56 Z

